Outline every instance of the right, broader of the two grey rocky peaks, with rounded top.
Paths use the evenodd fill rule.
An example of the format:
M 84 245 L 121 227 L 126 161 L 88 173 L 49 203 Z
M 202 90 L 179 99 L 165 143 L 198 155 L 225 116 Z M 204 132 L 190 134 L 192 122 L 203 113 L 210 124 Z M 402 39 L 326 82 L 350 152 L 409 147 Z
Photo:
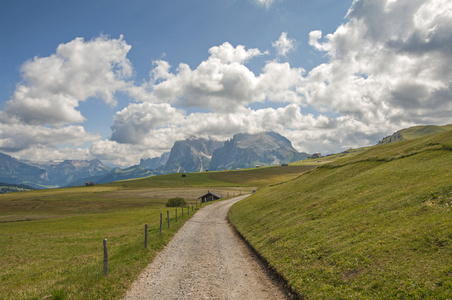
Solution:
M 299 153 L 292 143 L 275 132 L 237 134 L 215 150 L 210 162 L 211 170 L 251 168 L 256 165 L 290 163 L 308 157 Z

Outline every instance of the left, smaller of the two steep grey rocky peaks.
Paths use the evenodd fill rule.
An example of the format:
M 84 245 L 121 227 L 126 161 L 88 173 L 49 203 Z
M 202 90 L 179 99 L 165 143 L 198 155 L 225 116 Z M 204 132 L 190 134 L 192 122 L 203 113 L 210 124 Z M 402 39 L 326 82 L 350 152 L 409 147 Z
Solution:
M 163 173 L 202 172 L 209 169 L 215 149 L 223 142 L 207 139 L 188 139 L 174 143 Z

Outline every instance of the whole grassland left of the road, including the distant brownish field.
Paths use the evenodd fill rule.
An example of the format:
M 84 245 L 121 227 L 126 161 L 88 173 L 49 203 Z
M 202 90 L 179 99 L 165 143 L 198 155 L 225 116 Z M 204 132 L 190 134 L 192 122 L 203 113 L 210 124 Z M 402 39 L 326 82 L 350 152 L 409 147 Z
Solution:
M 207 189 L 232 195 L 294 178 L 305 170 L 274 167 L 187 177 L 168 174 L 94 187 L 3 194 L 0 299 L 117 298 L 187 220 L 186 211 L 182 219 L 179 209 L 176 223 L 175 209 L 170 208 L 171 228 L 166 228 L 164 204 L 174 191 L 182 197 L 200 196 Z M 160 236 L 161 212 L 165 221 Z M 143 247 L 145 223 L 150 231 L 148 250 Z M 109 248 L 108 277 L 102 275 L 104 238 Z

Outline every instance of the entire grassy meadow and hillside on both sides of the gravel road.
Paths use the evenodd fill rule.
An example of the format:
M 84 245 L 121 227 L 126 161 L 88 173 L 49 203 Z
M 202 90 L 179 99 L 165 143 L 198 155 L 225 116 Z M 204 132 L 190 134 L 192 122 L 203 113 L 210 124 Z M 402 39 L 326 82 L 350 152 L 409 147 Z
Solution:
M 448 130 L 289 166 L 5 194 L 0 298 L 120 297 L 211 190 L 256 191 L 229 219 L 295 298 L 449 299 L 451 152 Z M 174 197 L 194 205 L 184 217 L 179 208 L 177 222 L 165 207 Z M 159 234 L 166 211 L 171 227 Z

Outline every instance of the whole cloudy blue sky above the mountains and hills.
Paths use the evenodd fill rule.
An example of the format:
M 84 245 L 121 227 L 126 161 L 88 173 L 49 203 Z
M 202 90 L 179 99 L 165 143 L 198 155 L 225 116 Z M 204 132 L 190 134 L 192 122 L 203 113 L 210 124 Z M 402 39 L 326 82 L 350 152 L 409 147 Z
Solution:
M 452 123 L 450 0 L 3 0 L 0 152 L 127 167 L 274 131 L 301 152 Z

